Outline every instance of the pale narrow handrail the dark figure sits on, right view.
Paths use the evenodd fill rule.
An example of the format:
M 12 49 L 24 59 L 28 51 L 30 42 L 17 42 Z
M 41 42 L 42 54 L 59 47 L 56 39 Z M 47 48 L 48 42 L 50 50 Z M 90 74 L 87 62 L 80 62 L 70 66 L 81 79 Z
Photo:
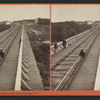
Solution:
M 89 49 L 91 48 L 94 40 L 96 39 L 96 37 L 98 36 L 99 32 L 95 35 L 95 37 L 91 40 L 91 42 L 87 45 L 87 47 L 85 48 L 85 53 L 86 55 L 89 52 Z M 69 80 L 69 78 L 71 77 L 71 75 L 73 74 L 73 72 L 75 71 L 75 69 L 77 68 L 77 66 L 82 62 L 82 58 L 78 57 L 78 59 L 76 60 L 76 62 L 73 64 L 73 66 L 71 67 L 71 69 L 68 71 L 68 73 L 64 76 L 64 78 L 62 79 L 62 81 L 58 84 L 58 86 L 56 87 L 55 91 L 60 90 L 64 83 L 66 83 L 66 81 Z

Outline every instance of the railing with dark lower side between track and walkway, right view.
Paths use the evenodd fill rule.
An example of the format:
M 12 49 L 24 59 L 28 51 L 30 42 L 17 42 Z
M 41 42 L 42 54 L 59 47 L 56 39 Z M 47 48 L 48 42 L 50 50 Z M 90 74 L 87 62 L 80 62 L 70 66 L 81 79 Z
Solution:
M 85 52 L 86 56 L 89 53 L 89 50 L 90 50 L 91 46 L 93 45 L 93 43 L 94 43 L 96 37 L 98 36 L 98 34 L 99 34 L 99 32 L 94 36 L 94 38 L 91 40 L 91 42 L 85 48 L 84 52 Z M 75 73 L 79 69 L 79 67 L 82 64 L 82 62 L 84 61 L 84 59 L 82 57 L 78 57 L 78 59 L 73 64 L 73 66 L 70 68 L 70 70 L 68 71 L 68 73 L 64 76 L 64 78 L 62 79 L 62 81 L 56 87 L 55 91 L 63 89 L 64 86 L 65 86 L 65 84 L 66 84 L 66 88 L 68 88 L 68 86 L 70 84 L 69 82 L 70 82 L 71 78 L 73 79 Z

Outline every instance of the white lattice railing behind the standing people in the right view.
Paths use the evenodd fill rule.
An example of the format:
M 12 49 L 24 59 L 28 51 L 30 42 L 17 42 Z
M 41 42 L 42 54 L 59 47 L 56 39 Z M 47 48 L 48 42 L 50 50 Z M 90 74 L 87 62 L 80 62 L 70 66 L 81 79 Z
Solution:
M 91 29 L 89 30 L 86 30 L 78 35 L 75 35 L 73 37 L 70 37 L 68 39 L 66 39 L 66 47 L 70 46 L 72 43 L 74 43 L 75 41 L 77 41 L 78 39 L 82 38 L 83 36 L 85 36 L 89 31 L 91 31 Z M 63 47 L 63 42 L 58 42 L 57 43 L 57 52 L 59 52 L 60 50 L 62 50 L 64 47 Z M 57 53 L 56 52 L 56 53 Z M 54 45 L 51 46 L 51 55 L 55 54 L 55 47 Z

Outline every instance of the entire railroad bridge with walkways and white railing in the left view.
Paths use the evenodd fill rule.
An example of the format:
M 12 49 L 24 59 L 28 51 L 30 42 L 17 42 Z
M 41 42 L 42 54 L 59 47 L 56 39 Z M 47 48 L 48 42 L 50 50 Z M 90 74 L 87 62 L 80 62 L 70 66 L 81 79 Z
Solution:
M 0 91 L 44 90 L 27 31 L 22 23 L 0 33 Z

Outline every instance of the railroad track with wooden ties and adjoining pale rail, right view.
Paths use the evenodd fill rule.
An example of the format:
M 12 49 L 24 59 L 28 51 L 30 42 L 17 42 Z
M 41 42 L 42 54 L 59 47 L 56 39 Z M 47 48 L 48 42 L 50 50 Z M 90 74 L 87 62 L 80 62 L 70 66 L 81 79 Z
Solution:
M 67 54 L 61 56 L 52 64 L 52 90 L 64 90 L 65 85 L 66 87 L 69 86 L 71 79 L 73 79 L 74 73 L 77 71 L 76 69 L 79 68 L 78 66 L 80 65 L 80 62 L 82 60 L 82 58 L 79 57 L 79 52 L 82 48 L 84 48 L 85 51 L 88 52 L 99 32 L 100 29 L 97 28 L 93 32 L 90 32 L 88 35 L 84 36 L 78 42 L 78 44 L 72 48 L 72 50 L 70 50 Z

